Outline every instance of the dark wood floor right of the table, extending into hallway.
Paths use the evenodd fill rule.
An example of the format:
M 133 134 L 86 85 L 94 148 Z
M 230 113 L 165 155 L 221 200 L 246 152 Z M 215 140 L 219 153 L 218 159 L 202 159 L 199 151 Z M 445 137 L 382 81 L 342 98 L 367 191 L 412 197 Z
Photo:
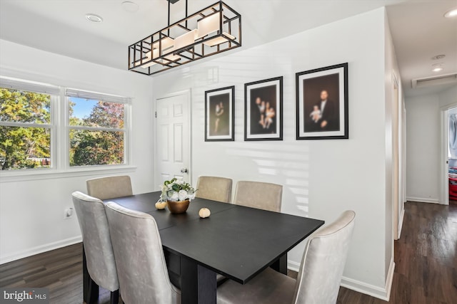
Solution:
M 457 206 L 408 202 L 395 241 L 391 298 L 398 304 L 457 303 Z M 340 288 L 338 303 L 385 301 Z

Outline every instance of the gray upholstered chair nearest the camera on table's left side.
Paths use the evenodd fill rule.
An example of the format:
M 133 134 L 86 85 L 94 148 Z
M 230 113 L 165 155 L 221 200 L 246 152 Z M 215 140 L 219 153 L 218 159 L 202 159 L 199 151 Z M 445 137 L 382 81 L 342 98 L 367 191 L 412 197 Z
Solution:
M 122 300 L 127 304 L 181 303 L 171 284 L 156 221 L 149 214 L 106 204 Z

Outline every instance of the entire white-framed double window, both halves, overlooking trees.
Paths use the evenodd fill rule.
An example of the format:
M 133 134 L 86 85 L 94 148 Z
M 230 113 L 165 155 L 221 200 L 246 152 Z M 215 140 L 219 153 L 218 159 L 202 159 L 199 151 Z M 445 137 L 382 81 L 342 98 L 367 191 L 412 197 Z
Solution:
M 129 112 L 130 98 L 0 76 L 0 171 L 131 169 Z

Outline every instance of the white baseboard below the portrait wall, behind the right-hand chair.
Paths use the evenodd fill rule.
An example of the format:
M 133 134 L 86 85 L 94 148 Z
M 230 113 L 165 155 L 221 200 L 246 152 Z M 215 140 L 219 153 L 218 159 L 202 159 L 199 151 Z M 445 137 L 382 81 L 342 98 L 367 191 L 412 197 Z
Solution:
M 288 261 L 287 268 L 290 269 L 291 271 L 298 271 L 300 268 L 300 264 L 293 262 L 293 261 Z M 358 293 L 364 293 L 366 295 L 371 295 L 374 298 L 388 301 L 388 299 L 391 297 L 391 288 L 392 288 L 394 269 L 395 269 L 395 263 L 393 263 L 393 257 L 392 257 L 391 263 L 388 267 L 386 285 L 384 286 L 384 288 L 381 288 L 381 287 L 378 287 L 375 285 L 371 285 L 368 283 L 364 283 L 361 281 L 353 280 L 352 278 L 346 278 L 344 276 L 343 276 L 343 278 L 341 278 L 341 286 L 343 286 L 344 288 L 355 290 Z

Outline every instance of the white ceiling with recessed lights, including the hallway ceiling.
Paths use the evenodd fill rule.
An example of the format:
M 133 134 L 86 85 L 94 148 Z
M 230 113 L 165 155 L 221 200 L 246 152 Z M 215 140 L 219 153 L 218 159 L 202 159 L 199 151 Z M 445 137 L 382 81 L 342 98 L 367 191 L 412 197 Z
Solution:
M 167 24 L 166 0 L 0 0 L 0 38 L 84 61 L 126 70 L 127 46 Z M 189 0 L 189 13 L 216 0 Z M 435 93 L 449 85 L 411 89 L 411 79 L 457 72 L 457 20 L 443 14 L 457 0 L 226 0 L 243 16 L 243 48 L 387 6 L 406 95 Z M 171 21 L 184 18 L 185 1 L 171 5 Z M 102 23 L 85 14 L 101 16 Z M 318 16 L 318 18 L 316 18 Z M 444 70 L 431 57 L 446 54 Z M 224 56 L 223 54 L 218 56 Z

